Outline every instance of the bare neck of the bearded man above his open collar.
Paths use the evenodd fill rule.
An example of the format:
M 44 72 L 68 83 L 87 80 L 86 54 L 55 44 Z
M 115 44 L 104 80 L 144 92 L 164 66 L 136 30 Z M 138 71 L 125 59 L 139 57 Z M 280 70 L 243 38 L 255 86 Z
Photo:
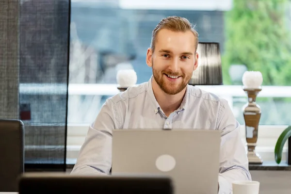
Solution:
M 166 94 L 164 91 L 162 91 L 162 89 L 154 79 L 152 81 L 152 89 L 157 102 L 159 103 L 162 111 L 166 114 L 166 116 L 169 116 L 180 107 L 186 92 L 185 87 L 178 94 Z

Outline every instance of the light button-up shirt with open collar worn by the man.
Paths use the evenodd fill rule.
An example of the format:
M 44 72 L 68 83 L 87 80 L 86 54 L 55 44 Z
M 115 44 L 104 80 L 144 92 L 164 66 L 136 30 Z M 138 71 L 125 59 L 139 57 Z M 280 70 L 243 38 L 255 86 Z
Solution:
M 152 79 L 106 100 L 89 126 L 71 174 L 109 174 L 113 129 L 207 129 L 221 132 L 219 194 L 231 194 L 234 180 L 251 180 L 240 124 L 227 101 L 187 85 L 180 107 L 166 116 L 154 96 Z

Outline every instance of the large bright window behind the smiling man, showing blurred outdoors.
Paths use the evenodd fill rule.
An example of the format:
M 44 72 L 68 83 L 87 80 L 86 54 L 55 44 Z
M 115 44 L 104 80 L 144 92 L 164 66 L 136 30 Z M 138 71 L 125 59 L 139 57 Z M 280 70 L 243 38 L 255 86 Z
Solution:
M 247 102 L 242 74 L 262 72 L 257 103 L 262 111 L 259 134 L 266 139 L 258 144 L 273 157 L 278 131 L 291 124 L 290 13 L 288 0 L 72 0 L 68 145 L 82 144 L 86 126 L 104 101 L 118 93 L 118 69 L 133 68 L 137 83 L 149 80 L 145 58 L 151 32 L 163 17 L 177 15 L 196 24 L 200 41 L 220 43 L 224 85 L 201 88 L 226 98 L 242 125 Z M 74 128 L 80 125 L 85 126 L 82 132 Z

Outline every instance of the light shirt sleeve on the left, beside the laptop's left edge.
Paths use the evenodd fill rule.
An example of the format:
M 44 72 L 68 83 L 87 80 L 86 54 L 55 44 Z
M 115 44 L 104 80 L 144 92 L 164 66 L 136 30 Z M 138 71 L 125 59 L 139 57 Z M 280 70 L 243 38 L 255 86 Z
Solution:
M 88 129 L 72 175 L 109 174 L 112 165 L 112 129 L 115 129 L 113 115 L 117 111 L 113 101 L 107 99 Z

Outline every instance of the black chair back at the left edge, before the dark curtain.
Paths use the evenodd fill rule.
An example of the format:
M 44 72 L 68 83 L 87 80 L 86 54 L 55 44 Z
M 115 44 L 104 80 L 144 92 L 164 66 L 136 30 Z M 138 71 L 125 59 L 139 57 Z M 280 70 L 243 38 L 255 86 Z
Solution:
M 0 192 L 17 192 L 24 172 L 24 125 L 21 120 L 0 119 Z

